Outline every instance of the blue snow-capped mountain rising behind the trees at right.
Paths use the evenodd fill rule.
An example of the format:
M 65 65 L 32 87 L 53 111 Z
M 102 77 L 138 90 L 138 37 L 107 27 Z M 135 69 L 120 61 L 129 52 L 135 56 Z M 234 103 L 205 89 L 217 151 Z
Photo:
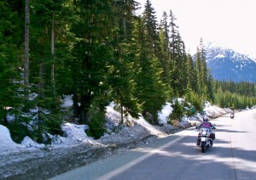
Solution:
M 256 82 L 256 60 L 230 48 L 206 48 L 207 67 L 213 79 L 233 82 Z

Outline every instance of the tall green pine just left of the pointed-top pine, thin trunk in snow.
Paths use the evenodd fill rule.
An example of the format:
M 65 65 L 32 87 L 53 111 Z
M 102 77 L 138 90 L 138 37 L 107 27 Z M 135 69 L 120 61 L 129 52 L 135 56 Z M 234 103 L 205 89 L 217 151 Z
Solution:
M 113 39 L 113 64 L 108 77 L 114 101 L 121 107 L 121 122 L 124 121 L 124 112 L 138 117 L 141 111 L 134 90 L 134 81 L 137 71 L 137 44 L 133 41 L 134 16 L 136 6 L 134 1 L 119 1 L 115 4 L 116 18 L 115 37 Z M 120 15 L 122 14 L 122 15 Z M 127 113 L 125 113 L 127 114 Z

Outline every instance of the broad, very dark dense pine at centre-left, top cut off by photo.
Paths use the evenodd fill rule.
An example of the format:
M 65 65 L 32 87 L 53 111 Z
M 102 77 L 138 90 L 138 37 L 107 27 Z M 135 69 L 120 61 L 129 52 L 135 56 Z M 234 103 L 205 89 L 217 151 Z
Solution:
M 88 124 L 90 104 L 108 88 L 108 66 L 112 58 L 113 1 L 76 1 L 79 20 L 73 24 L 74 107 L 79 122 Z M 80 104 L 80 105 L 78 105 Z

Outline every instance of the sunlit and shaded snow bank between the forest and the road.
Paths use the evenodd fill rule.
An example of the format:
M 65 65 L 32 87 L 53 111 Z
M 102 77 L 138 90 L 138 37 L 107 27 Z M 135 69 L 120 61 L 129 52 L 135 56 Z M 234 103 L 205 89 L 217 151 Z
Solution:
M 72 105 L 70 103 L 72 97 L 66 97 L 64 101 L 64 106 L 68 107 Z M 61 136 L 51 136 L 52 144 L 47 147 L 44 144 L 39 144 L 34 142 L 31 138 L 24 138 L 24 140 L 18 144 L 15 143 L 10 136 L 9 129 L 0 125 L 0 155 L 8 154 L 11 152 L 26 151 L 31 149 L 56 149 L 56 148 L 67 148 L 79 144 L 104 144 L 104 143 L 122 143 L 124 141 L 134 140 L 143 138 L 145 136 L 154 135 L 154 136 L 164 136 L 166 132 L 172 132 L 177 130 L 177 127 L 173 127 L 167 124 L 169 121 L 169 115 L 172 113 L 171 104 L 166 103 L 163 107 L 163 110 L 159 113 L 159 121 L 162 126 L 153 126 L 143 119 L 141 115 L 137 120 L 132 118 L 130 115 L 125 116 L 126 126 L 119 127 L 120 113 L 114 110 L 114 104 L 109 104 L 107 107 L 106 119 L 107 127 L 111 129 L 108 133 L 105 133 L 104 136 L 100 139 L 93 139 L 86 135 L 84 130 L 88 128 L 86 125 L 76 125 L 73 123 L 64 123 L 62 130 L 64 132 L 64 137 Z M 218 117 L 230 113 L 229 109 L 220 109 L 217 106 L 212 106 L 207 104 L 204 109 L 206 115 L 209 117 Z M 192 124 L 193 122 L 201 121 L 201 115 L 197 114 L 194 117 L 183 118 L 179 122 L 179 127 L 187 127 L 187 124 Z

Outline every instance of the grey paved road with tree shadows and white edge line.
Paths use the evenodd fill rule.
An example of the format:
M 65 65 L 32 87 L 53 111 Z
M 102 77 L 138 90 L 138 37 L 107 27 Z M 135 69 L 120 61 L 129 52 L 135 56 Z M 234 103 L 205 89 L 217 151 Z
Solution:
M 256 110 L 212 123 L 216 140 L 206 153 L 195 145 L 198 130 L 189 128 L 52 179 L 256 179 Z

